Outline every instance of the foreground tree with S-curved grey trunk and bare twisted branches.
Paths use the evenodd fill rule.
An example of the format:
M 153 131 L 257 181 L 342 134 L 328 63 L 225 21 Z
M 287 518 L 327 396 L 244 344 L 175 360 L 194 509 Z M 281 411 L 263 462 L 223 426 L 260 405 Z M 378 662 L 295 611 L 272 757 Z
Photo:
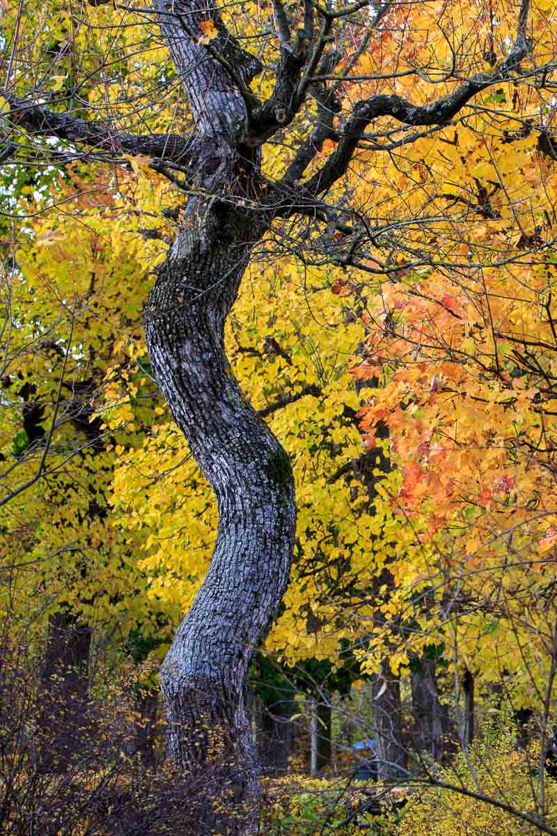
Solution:
M 369 204 L 369 155 L 438 130 L 450 136 L 452 120 L 493 88 L 535 77 L 544 89 L 554 69 L 546 5 L 530 17 L 529 0 L 518 16 L 502 4 L 494 33 L 493 13 L 477 14 L 472 3 L 408 12 L 392 3 L 335 8 L 310 0 L 287 10 L 276 0 L 262 18 L 244 6 L 253 25 L 235 37 L 238 21 L 224 9 L 156 0 L 122 20 L 119 10 L 98 9 L 91 21 L 75 8 L 57 11 L 43 43 L 28 26 L 32 4 L 8 15 L 6 155 L 109 164 L 128 155 L 132 166 L 153 168 L 181 191 L 174 240 L 145 305 L 145 336 L 154 375 L 219 509 L 210 568 L 161 674 L 179 767 L 205 768 L 216 757 L 215 736 L 222 738 L 215 769 L 231 798 L 224 813 L 206 805 L 207 828 L 249 827 L 230 816 L 257 798 L 244 687 L 253 650 L 281 604 L 295 536 L 291 462 L 246 403 L 225 355 L 225 321 L 242 277 L 259 242 L 271 241 L 306 265 L 336 265 L 337 289 L 358 271 L 390 277 L 434 265 L 436 218 L 412 202 L 402 221 Z M 92 25 L 114 40 L 101 38 L 89 52 Z M 439 33 L 425 53 L 413 26 Z M 148 49 L 160 37 L 172 63 L 149 76 L 144 57 L 131 53 L 134 43 Z M 241 47 L 244 37 L 262 61 Z M 175 114 L 155 106 L 151 82 L 174 95 L 179 133 L 170 132 Z M 182 116 L 184 93 L 190 110 Z M 103 118 L 91 118 L 99 108 Z M 118 111 L 122 127 L 111 116 Z M 157 132 L 159 118 L 168 132 Z M 135 132 L 139 125 L 146 132 Z M 270 168 L 276 147 L 286 157 L 278 176 Z M 361 198 L 352 200 L 358 181 Z M 450 227 L 450 213 L 445 222 Z M 442 260 L 454 263 L 450 253 Z

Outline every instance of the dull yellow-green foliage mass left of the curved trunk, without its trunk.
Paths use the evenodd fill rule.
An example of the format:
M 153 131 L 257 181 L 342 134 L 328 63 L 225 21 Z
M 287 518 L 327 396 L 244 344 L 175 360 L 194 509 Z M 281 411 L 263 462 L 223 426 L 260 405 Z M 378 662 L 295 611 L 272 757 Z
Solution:
M 144 372 L 134 375 L 136 391 L 142 387 L 135 432 L 129 415 L 110 428 L 94 415 L 99 393 L 129 375 L 142 310 L 137 290 L 146 293 L 150 259 L 157 257 L 156 247 L 139 252 L 126 237 L 129 216 L 136 220 L 137 184 L 120 180 L 120 204 L 113 185 L 98 171 L 66 171 L 50 184 L 53 202 L 67 207 L 63 232 L 58 214 L 32 212 L 17 249 L 10 247 L 2 263 L 11 324 L 3 357 L 0 498 L 15 495 L 0 509 L 0 548 L 5 565 L 22 579 L 18 605 L 25 607 L 25 594 L 39 594 L 124 639 L 141 624 L 144 640 L 154 635 L 160 645 L 168 639 L 168 610 L 163 615 L 156 602 L 147 604 L 135 544 L 109 510 L 115 448 L 120 439 L 133 443 L 153 421 L 154 386 Z M 144 189 L 149 204 L 152 184 Z M 16 197 L 20 211 L 34 206 L 28 195 Z M 118 217 L 110 238 L 107 209 Z

